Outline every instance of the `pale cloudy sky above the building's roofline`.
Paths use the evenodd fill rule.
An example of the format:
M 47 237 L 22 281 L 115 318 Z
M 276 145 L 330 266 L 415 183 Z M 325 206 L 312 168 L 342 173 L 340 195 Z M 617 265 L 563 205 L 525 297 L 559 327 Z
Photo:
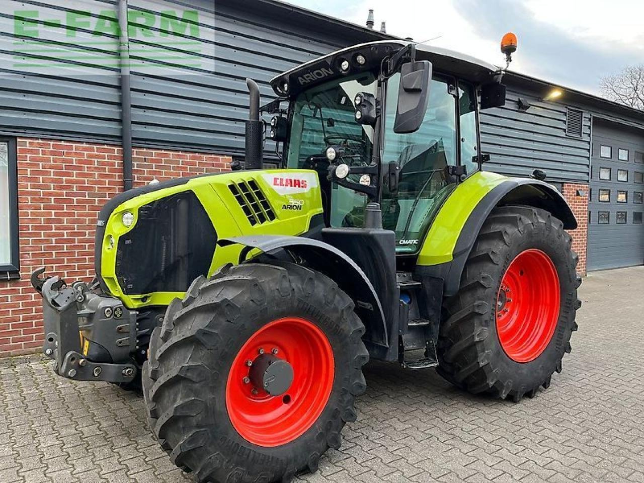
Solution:
M 287 1 L 358 24 L 373 8 L 376 28 L 497 65 L 512 31 L 512 70 L 595 94 L 601 76 L 644 63 L 644 0 Z

